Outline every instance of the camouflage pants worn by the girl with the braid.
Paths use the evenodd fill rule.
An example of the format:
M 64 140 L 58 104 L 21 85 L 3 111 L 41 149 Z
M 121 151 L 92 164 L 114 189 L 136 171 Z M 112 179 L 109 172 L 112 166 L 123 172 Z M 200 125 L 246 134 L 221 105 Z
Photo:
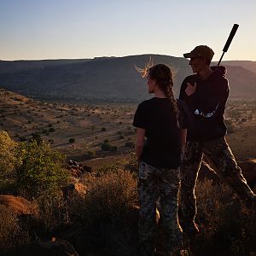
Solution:
M 140 202 L 139 238 L 141 255 L 154 255 L 156 201 L 160 198 L 160 225 L 166 252 L 182 245 L 182 231 L 177 218 L 180 170 L 158 169 L 141 162 L 138 193 Z

